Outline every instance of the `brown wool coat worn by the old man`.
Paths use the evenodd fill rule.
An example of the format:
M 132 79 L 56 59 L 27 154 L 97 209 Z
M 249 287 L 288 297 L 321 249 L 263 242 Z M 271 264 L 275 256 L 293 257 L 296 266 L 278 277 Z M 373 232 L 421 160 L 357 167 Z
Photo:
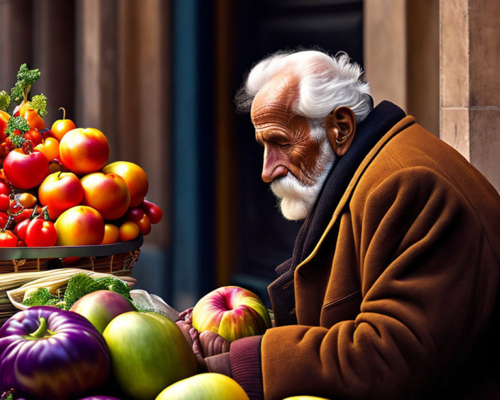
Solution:
M 500 398 L 499 221 L 486 179 L 413 117 L 399 121 L 295 269 L 298 325 L 262 338 L 265 399 Z

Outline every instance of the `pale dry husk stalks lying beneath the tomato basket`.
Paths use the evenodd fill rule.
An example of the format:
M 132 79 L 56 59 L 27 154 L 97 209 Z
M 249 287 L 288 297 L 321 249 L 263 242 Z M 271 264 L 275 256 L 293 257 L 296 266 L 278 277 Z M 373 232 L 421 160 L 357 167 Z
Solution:
M 40 287 L 46 287 L 53 295 L 57 295 L 58 292 L 63 293 L 69 278 L 76 273 L 85 273 L 91 278 L 113 276 L 121 279 L 128 287 L 132 287 L 135 283 L 135 279 L 130 276 L 116 276 L 110 273 L 94 272 L 79 268 L 59 268 L 48 271 L 6 273 L 0 276 L 0 318 L 2 316 L 2 311 L 11 310 L 11 304 L 18 309 L 28 308 L 27 305 L 22 304 L 24 296 L 36 291 Z M 8 303 L 5 302 L 5 298 L 2 298 L 1 293 L 5 293 Z M 2 305 L 8 306 L 8 310 L 2 309 Z

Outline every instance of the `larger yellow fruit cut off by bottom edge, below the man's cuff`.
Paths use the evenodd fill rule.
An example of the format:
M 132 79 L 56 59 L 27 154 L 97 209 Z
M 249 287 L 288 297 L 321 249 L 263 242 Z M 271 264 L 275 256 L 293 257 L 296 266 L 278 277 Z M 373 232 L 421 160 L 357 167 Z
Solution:
M 171 384 L 155 400 L 249 400 L 242 387 L 220 373 L 200 373 Z

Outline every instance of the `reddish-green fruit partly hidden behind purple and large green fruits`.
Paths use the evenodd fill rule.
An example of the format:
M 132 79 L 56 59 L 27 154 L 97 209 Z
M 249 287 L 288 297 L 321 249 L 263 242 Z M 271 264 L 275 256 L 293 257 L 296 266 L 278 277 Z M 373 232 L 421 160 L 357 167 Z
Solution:
M 111 319 L 123 312 L 135 311 L 135 307 L 115 291 L 97 290 L 80 297 L 69 308 L 69 311 L 83 315 L 99 333 L 102 333 Z

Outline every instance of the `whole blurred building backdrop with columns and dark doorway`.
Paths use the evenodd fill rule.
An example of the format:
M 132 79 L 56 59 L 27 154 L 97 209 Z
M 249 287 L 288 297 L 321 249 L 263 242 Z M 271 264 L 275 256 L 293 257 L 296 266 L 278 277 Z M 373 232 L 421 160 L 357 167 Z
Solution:
M 496 0 L 0 0 L 0 89 L 22 62 L 61 117 L 141 165 L 161 206 L 133 275 L 183 309 L 238 284 L 266 297 L 299 222 L 260 180 L 262 150 L 232 98 L 278 49 L 347 52 L 392 100 L 498 189 Z

